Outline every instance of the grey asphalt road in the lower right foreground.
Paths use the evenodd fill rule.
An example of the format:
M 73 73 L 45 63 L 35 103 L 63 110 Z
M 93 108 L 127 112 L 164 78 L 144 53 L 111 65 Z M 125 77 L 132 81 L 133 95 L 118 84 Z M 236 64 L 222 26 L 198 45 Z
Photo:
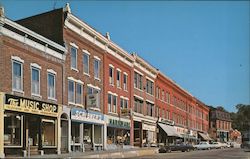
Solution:
M 153 156 L 139 158 L 164 158 L 164 159 L 250 159 L 250 152 L 244 152 L 240 148 L 227 148 L 215 150 L 199 150 L 191 152 L 158 153 Z

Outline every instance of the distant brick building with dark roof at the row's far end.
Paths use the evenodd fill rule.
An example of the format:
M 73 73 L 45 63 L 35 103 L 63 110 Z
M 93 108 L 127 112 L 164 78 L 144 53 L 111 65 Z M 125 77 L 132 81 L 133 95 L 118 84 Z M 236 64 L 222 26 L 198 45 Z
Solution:
M 232 129 L 230 114 L 222 107 L 210 107 L 210 136 L 220 142 L 229 141 L 229 132 Z

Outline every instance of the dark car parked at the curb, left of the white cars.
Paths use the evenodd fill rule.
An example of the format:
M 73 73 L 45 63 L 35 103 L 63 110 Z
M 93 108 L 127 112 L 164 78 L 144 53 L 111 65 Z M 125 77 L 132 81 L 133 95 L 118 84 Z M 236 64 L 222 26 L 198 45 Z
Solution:
M 189 152 L 194 149 L 195 148 L 193 147 L 193 145 L 190 145 L 190 144 L 166 145 L 166 146 L 161 146 L 159 148 L 159 153 L 166 153 L 166 152 L 171 152 L 171 151 Z

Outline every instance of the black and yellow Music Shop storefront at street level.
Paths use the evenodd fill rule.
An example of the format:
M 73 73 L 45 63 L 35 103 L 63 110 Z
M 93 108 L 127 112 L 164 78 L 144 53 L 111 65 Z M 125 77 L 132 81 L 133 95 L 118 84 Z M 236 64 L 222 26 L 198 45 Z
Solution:
M 4 153 L 56 153 L 58 112 L 57 104 L 5 94 Z

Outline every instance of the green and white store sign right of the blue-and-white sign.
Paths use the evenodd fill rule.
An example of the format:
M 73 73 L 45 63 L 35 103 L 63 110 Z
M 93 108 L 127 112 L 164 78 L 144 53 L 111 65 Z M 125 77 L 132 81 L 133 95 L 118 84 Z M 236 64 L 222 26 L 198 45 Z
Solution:
M 111 127 L 130 129 L 130 120 L 105 115 L 106 123 Z

